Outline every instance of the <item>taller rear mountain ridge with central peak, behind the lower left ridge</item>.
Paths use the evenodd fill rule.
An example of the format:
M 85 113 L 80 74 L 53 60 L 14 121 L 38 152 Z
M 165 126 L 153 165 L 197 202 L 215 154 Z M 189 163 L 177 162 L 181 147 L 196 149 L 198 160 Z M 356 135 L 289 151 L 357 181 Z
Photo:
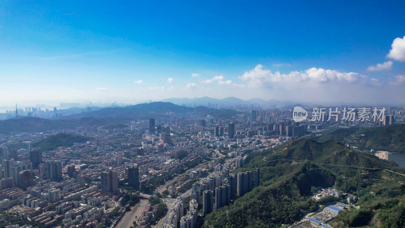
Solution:
M 208 107 L 184 107 L 170 102 L 152 102 L 126 107 L 103 108 L 96 111 L 84 112 L 65 118 L 95 117 L 95 118 L 121 118 L 121 119 L 148 119 L 159 118 L 166 115 L 167 112 L 175 113 L 200 113 L 203 115 L 212 115 L 214 117 L 231 117 L 237 115 L 235 110 L 219 110 Z

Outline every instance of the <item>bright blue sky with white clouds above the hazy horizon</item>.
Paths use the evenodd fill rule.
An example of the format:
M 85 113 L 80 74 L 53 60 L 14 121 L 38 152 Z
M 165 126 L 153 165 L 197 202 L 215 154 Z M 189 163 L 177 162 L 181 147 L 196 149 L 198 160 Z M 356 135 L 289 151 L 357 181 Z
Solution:
M 2 1 L 0 106 L 201 96 L 403 104 L 403 9 L 403 1 Z

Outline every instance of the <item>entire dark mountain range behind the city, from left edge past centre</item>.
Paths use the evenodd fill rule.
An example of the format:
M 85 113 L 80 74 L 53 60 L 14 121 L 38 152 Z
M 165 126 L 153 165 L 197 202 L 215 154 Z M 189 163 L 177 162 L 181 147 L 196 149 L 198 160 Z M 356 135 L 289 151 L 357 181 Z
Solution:
M 80 126 L 105 126 L 119 124 L 128 120 L 145 120 L 160 118 L 167 112 L 192 113 L 203 116 L 211 115 L 216 118 L 230 118 L 241 112 L 229 109 L 215 109 L 209 107 L 184 107 L 170 102 L 152 102 L 126 107 L 109 107 L 95 111 L 83 112 L 64 116 L 58 120 L 23 117 L 0 121 L 0 134 L 10 132 L 44 132 L 52 129 L 75 128 Z M 117 126 L 117 125 L 115 125 Z

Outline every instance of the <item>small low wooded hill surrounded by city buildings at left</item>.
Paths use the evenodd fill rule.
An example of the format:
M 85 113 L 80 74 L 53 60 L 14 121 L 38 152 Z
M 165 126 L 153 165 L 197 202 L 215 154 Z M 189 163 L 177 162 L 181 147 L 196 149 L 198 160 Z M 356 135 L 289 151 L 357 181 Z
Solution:
M 92 140 L 92 138 L 83 137 L 81 135 L 59 133 L 35 142 L 33 147 L 41 148 L 42 150 L 46 151 L 54 150 L 61 146 L 72 146 L 73 143 L 84 143 L 89 140 Z

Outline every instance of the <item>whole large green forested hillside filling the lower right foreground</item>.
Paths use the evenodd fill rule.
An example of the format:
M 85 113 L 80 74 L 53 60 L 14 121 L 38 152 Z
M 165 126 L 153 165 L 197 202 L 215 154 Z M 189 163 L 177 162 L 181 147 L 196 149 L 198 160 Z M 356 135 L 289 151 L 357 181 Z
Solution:
M 309 196 L 313 187 L 334 187 L 359 197 L 358 204 L 364 211 L 354 215 L 352 211 L 345 212 L 334 220 L 336 225 L 346 227 L 377 223 L 390 227 L 388 225 L 393 224 L 393 219 L 384 216 L 398 205 L 385 203 L 405 201 L 403 177 L 384 170 L 405 173 L 404 169 L 375 156 L 351 151 L 336 141 L 317 142 L 303 138 L 254 152 L 249 157 L 250 161 L 240 170 L 253 171 L 259 167 L 259 187 L 236 199 L 232 205 L 206 216 L 204 227 L 280 227 L 281 224 L 291 224 L 317 210 L 319 202 L 314 202 Z M 396 197 L 392 202 L 390 195 Z M 376 211 L 377 207 L 380 211 Z M 368 217 L 361 220 L 365 214 Z M 353 223 L 358 220 L 361 222 Z

